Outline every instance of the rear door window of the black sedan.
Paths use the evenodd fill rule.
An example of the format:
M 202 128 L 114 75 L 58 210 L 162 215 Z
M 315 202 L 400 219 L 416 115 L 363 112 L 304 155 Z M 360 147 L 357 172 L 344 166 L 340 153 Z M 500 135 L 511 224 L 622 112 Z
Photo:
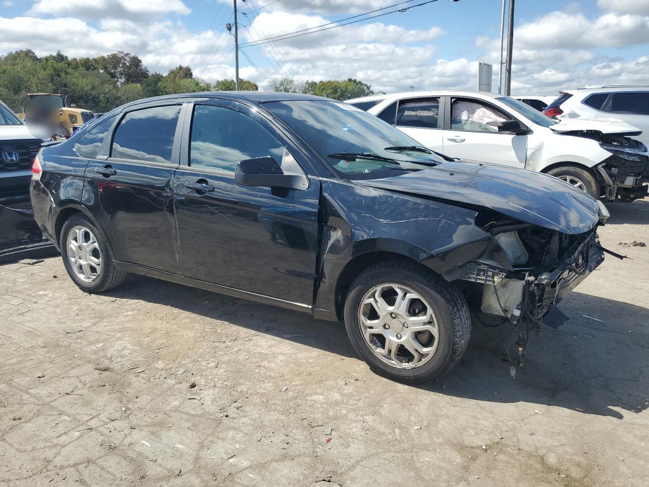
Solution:
M 115 131 L 110 156 L 170 164 L 179 114 L 180 105 L 127 113 Z

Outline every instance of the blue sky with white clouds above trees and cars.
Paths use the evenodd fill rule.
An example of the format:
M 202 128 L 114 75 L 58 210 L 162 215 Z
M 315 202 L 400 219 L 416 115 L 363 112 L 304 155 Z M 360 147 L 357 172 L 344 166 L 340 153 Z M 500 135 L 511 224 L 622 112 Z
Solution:
M 482 61 L 493 64 L 497 91 L 501 0 L 417 6 L 425 1 L 238 0 L 239 75 L 262 90 L 279 77 L 356 78 L 388 93 L 474 90 Z M 393 13 L 245 45 L 377 9 L 371 15 Z M 234 78 L 232 13 L 232 0 L 0 0 L 0 55 L 121 50 L 163 74 L 183 64 L 208 81 Z M 514 25 L 512 94 L 649 83 L 649 0 L 519 0 Z

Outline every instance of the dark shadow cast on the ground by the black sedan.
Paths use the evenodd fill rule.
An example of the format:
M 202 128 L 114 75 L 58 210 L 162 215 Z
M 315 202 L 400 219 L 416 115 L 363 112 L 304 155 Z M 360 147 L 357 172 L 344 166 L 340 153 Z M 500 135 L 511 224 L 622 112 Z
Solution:
M 254 332 L 355 357 L 341 323 L 314 320 L 281 310 L 147 277 L 132 277 L 108 292 L 121 299 L 142 299 L 186 312 L 223 319 Z M 509 375 L 504 343 L 511 325 L 487 329 L 474 325 L 463 360 L 440 381 L 420 390 L 496 403 L 561 406 L 585 414 L 623 418 L 649 407 L 649 345 L 645 331 L 649 309 L 578 292 L 561 303 L 570 320 L 559 329 L 543 327 L 530 336 L 527 360 Z M 583 318 L 606 310 L 603 323 Z M 295 364 L 299 367 L 299 364 Z

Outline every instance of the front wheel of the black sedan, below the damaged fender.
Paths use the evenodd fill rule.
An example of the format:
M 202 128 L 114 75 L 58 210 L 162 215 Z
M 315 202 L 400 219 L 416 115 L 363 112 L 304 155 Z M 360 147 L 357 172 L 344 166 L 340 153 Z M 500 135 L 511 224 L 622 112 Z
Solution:
M 392 305 L 382 316 L 374 304 L 378 303 L 376 290 L 383 303 Z M 406 299 L 397 301 L 399 290 Z M 412 299 L 414 295 L 418 297 Z M 426 318 L 428 312 L 434 319 Z M 373 323 L 372 327 L 367 323 Z M 469 344 L 471 317 L 463 295 L 428 269 L 410 262 L 380 262 L 352 282 L 345 301 L 345 328 L 356 353 L 374 372 L 412 384 L 439 379 L 458 363 Z M 417 331 L 422 328 L 426 331 Z M 391 338 L 390 345 L 386 337 Z

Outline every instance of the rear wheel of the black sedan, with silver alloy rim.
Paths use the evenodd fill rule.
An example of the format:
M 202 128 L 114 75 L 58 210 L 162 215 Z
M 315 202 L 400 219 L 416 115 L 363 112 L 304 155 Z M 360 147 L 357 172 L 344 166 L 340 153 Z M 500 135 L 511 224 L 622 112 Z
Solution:
M 115 268 L 104 233 L 82 214 L 63 224 L 59 245 L 67 274 L 82 291 L 100 293 L 119 286 L 127 276 Z

